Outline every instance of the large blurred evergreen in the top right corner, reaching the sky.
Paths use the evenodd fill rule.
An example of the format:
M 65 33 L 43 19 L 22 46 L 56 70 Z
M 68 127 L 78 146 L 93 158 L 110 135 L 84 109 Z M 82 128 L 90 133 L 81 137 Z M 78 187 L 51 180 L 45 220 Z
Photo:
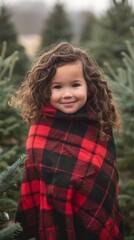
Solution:
M 112 67 L 123 66 L 121 51 L 125 50 L 131 26 L 134 26 L 134 11 L 128 0 L 111 0 L 109 9 L 94 28 L 93 40 L 86 44 L 101 67 L 105 61 Z

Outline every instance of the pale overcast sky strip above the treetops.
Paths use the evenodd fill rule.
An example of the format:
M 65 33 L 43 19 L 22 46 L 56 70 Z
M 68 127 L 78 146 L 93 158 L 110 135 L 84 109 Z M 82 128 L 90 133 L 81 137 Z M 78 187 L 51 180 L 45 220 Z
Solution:
M 23 0 L 0 0 L 6 4 L 19 3 Z M 103 13 L 109 6 L 111 0 L 27 0 L 28 2 L 44 2 L 48 7 L 52 7 L 56 2 L 63 3 L 68 10 L 92 9 L 97 14 Z M 119 0 L 118 0 L 119 1 Z M 128 0 L 134 6 L 134 0 Z

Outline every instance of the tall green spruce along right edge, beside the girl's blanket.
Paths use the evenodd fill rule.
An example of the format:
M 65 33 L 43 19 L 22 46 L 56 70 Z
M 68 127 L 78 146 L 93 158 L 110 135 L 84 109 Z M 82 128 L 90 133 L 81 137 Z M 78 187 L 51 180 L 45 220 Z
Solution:
M 134 239 L 134 29 L 131 43 L 126 41 L 122 52 L 124 67 L 117 71 L 105 63 L 108 81 L 113 88 L 122 112 L 123 131 L 117 139 L 118 167 L 120 170 L 120 206 L 125 221 L 126 235 Z

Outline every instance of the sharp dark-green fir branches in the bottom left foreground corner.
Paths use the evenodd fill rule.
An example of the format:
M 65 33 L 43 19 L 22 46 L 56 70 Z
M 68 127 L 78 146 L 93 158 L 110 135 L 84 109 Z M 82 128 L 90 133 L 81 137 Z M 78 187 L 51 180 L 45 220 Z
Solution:
M 11 240 L 22 231 L 19 223 L 14 223 L 17 202 L 10 197 L 19 181 L 22 180 L 25 155 L 22 155 L 7 170 L 0 173 L 0 239 Z

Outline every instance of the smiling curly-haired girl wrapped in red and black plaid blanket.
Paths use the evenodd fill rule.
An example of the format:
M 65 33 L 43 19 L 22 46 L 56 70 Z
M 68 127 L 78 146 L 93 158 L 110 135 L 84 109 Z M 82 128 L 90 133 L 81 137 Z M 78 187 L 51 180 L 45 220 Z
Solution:
M 10 105 L 30 124 L 17 239 L 122 240 L 107 82 L 86 51 L 61 43 L 39 57 Z

